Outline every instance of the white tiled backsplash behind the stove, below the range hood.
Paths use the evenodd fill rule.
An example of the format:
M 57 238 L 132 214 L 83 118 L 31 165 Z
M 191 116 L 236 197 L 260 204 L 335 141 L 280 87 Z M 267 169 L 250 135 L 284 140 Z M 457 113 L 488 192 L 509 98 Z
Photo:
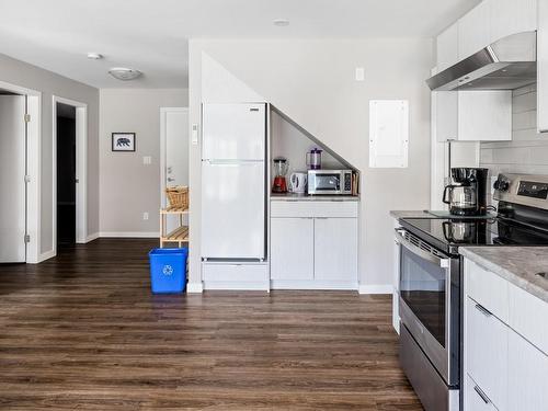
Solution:
M 480 165 L 499 172 L 548 174 L 548 137 L 536 133 L 536 85 L 515 90 L 512 101 L 512 141 L 482 142 Z

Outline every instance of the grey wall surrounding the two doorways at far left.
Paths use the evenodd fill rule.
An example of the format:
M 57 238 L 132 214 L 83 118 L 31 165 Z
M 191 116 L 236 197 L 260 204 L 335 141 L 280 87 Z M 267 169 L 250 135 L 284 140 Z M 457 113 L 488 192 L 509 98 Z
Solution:
M 52 96 L 88 104 L 88 233 L 99 230 L 99 90 L 0 55 L 0 81 L 42 92 L 41 253 L 53 250 Z

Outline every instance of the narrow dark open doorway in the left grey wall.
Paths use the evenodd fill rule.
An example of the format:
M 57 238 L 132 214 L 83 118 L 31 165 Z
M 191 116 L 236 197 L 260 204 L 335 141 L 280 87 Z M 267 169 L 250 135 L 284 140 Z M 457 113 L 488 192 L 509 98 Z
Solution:
M 57 247 L 76 243 L 76 107 L 57 102 Z

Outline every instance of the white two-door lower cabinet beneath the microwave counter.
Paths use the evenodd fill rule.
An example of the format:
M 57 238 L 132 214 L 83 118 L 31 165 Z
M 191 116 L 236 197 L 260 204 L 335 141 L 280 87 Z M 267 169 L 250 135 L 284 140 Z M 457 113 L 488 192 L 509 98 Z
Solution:
M 357 289 L 355 202 L 273 202 L 272 288 Z

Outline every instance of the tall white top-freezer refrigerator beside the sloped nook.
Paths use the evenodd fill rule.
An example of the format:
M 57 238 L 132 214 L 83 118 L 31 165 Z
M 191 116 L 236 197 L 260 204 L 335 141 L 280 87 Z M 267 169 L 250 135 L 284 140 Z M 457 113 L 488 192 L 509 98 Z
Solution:
M 264 260 L 266 104 L 204 104 L 202 124 L 202 258 Z

